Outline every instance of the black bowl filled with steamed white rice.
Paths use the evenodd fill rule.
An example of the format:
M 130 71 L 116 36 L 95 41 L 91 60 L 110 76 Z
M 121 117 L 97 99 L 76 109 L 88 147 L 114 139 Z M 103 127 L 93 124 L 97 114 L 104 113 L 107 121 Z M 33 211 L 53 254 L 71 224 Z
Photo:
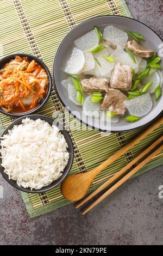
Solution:
M 57 121 L 27 115 L 2 133 L 0 172 L 18 190 L 42 193 L 61 184 L 73 163 L 73 143 Z

